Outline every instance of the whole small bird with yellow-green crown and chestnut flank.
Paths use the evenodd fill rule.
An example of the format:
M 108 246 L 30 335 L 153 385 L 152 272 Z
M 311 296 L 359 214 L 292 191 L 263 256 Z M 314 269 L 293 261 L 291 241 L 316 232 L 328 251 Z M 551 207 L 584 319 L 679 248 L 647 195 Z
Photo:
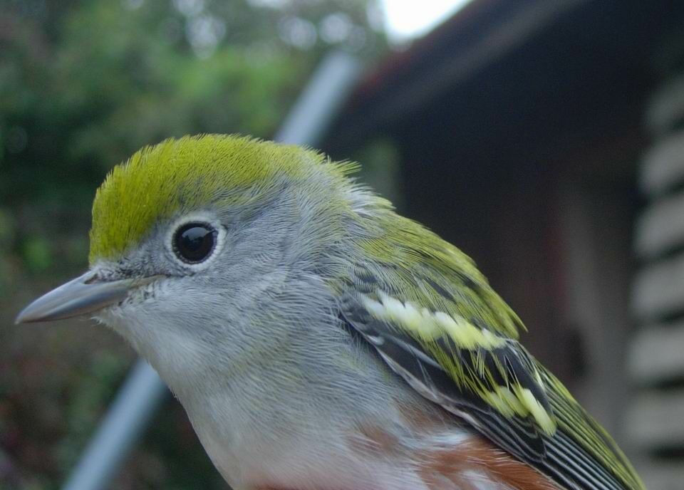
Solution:
M 474 261 L 354 162 L 242 135 L 147 146 L 95 194 L 91 316 L 170 387 L 235 490 L 644 490 Z

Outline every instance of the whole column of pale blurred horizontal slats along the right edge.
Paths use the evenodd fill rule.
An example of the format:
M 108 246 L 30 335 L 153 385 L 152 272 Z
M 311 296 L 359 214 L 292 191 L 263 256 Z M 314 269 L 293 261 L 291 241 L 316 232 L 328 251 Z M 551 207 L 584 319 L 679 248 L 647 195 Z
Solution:
M 647 206 L 636 224 L 639 330 L 627 433 L 649 490 L 684 489 L 684 76 L 651 101 L 653 145 L 641 162 Z

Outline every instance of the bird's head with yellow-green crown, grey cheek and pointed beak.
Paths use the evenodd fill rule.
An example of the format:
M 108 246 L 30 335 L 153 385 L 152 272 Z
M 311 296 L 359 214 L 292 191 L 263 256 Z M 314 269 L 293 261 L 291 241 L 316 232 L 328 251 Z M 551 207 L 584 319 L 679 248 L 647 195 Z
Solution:
M 157 345 L 172 343 L 165 355 L 182 355 L 198 342 L 235 340 L 224 330 L 247 328 L 247 316 L 259 321 L 251 311 L 271 320 L 289 314 L 266 307 L 289 294 L 286 279 L 336 267 L 326 247 L 341 241 L 353 168 L 238 136 L 145 147 L 98 189 L 90 270 L 38 298 L 17 322 L 95 316 L 148 358 Z M 254 328 L 244 335 L 249 343 Z

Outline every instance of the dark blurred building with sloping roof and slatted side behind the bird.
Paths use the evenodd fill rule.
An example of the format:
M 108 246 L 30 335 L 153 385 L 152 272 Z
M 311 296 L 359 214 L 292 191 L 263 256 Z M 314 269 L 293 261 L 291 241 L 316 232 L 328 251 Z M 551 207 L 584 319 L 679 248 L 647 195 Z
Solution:
M 477 261 L 651 490 L 684 488 L 683 127 L 684 2 L 474 0 L 322 145 L 393 145 L 400 211 Z

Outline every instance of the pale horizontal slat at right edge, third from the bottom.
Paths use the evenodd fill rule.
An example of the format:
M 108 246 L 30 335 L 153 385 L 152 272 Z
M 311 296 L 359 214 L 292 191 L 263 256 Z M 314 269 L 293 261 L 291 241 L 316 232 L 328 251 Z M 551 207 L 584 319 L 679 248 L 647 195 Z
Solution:
M 640 384 L 683 378 L 684 322 L 652 325 L 639 331 L 631 345 L 628 365 L 632 379 Z

